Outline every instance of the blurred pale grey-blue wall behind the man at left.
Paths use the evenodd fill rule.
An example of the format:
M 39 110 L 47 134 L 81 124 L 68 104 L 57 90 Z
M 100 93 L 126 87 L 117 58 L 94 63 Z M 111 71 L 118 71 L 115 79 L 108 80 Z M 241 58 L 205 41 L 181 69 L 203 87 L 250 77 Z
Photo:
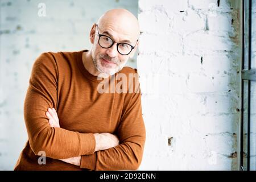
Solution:
M 14 168 L 27 140 L 23 102 L 36 57 L 90 49 L 93 23 L 119 7 L 138 15 L 137 0 L 0 0 L 0 170 Z

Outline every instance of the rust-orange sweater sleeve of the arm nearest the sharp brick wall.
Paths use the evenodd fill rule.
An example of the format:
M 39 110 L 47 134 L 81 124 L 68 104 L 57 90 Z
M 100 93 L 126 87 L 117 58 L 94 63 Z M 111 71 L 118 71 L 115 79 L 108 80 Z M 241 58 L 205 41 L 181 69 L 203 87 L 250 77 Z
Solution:
M 142 161 L 146 130 L 142 117 L 141 89 L 127 94 L 125 107 L 118 126 L 119 145 L 92 155 L 81 156 L 81 168 L 91 170 L 135 170 Z

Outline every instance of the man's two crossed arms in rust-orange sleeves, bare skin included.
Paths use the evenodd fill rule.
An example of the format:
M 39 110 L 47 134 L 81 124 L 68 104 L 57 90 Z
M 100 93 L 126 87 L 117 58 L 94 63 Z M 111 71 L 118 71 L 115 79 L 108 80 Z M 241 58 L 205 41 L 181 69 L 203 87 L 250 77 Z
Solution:
M 24 121 L 31 150 L 36 155 L 45 151 L 47 157 L 52 159 L 77 165 L 80 162 L 81 168 L 91 170 L 137 169 L 142 161 L 146 139 L 141 93 L 127 93 L 126 106 L 117 128 L 118 139 L 109 133 L 79 133 L 57 127 L 59 125 L 51 127 L 54 120 L 46 116 L 46 111 L 57 106 L 59 69 L 56 60 L 59 56 L 43 53 L 32 68 L 24 101 Z M 58 121 L 57 115 L 52 114 L 53 117 Z M 65 150 L 61 150 L 63 148 Z

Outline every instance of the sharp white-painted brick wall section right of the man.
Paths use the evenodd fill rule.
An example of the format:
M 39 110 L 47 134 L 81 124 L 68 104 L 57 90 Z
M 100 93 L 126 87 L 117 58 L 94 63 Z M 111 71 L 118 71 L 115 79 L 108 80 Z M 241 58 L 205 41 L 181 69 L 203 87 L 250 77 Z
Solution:
M 239 3 L 139 0 L 140 169 L 237 169 Z

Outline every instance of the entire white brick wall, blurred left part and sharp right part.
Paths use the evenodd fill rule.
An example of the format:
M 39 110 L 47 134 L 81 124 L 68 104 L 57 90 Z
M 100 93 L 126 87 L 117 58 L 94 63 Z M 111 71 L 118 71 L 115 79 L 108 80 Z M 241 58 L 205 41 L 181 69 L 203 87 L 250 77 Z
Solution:
M 39 2 L 45 18 L 37 16 Z M 89 48 L 90 27 L 104 11 L 136 14 L 136 2 L 0 0 L 0 169 L 13 169 L 27 139 L 23 101 L 39 53 Z M 238 2 L 138 1 L 147 131 L 139 169 L 237 169 Z

